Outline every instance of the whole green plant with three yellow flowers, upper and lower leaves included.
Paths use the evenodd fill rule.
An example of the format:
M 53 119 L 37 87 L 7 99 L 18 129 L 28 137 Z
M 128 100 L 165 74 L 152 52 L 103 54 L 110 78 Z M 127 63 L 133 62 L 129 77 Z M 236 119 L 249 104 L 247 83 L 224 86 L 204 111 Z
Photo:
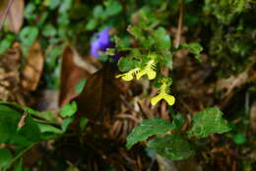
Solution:
M 172 54 L 181 48 L 189 49 L 191 53 L 195 54 L 195 58 L 202 62 L 200 52 L 203 48 L 199 43 L 172 47 L 170 37 L 164 28 L 159 27 L 158 19 L 148 18 L 147 16 L 152 15 L 147 13 L 149 11 L 145 9 L 139 11 L 140 22 L 128 27 L 128 31 L 138 41 L 139 47 L 122 46 L 121 40 L 116 38 L 117 50 L 128 51 L 128 55 L 118 62 L 120 71 L 125 73 L 117 75 L 116 78 L 125 82 L 140 79 L 154 81 L 154 85 L 159 88 L 159 93 L 151 98 L 151 104 L 156 105 L 163 99 L 171 106 L 175 102 L 174 96 L 170 94 L 172 79 L 163 76 L 160 73 L 161 68 L 171 69 Z M 211 134 L 224 134 L 230 130 L 223 118 L 223 113 L 217 108 L 207 108 L 196 113 L 188 131 L 181 130 L 183 125 L 181 118 L 181 115 L 177 114 L 172 117 L 172 122 L 160 118 L 144 120 L 127 137 L 127 148 L 155 136 L 155 139 L 147 142 L 149 148 L 168 159 L 180 160 L 195 153 L 196 141 Z

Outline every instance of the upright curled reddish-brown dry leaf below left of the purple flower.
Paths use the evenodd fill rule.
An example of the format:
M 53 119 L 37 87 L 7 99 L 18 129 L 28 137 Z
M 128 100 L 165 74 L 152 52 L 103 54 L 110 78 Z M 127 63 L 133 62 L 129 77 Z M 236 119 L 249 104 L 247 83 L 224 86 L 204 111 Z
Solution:
M 78 58 L 78 59 L 77 59 Z M 87 79 L 91 74 L 82 68 L 76 61 L 82 63 L 77 51 L 72 47 L 66 47 L 62 56 L 61 77 L 60 77 L 60 97 L 59 105 L 70 102 L 78 96 L 75 89 L 82 79 Z

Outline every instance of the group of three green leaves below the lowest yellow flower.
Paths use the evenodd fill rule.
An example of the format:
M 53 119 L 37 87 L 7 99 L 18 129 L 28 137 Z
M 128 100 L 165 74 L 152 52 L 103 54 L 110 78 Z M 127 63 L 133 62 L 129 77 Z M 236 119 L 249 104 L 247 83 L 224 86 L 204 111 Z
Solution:
M 168 159 L 180 160 L 195 153 L 196 141 L 211 134 L 224 134 L 230 131 L 223 113 L 217 108 L 207 108 L 196 113 L 187 132 L 181 130 L 184 120 L 180 114 L 174 115 L 172 119 L 172 122 L 160 118 L 144 120 L 127 137 L 126 146 L 131 148 L 137 142 L 158 136 L 147 142 L 147 146 Z

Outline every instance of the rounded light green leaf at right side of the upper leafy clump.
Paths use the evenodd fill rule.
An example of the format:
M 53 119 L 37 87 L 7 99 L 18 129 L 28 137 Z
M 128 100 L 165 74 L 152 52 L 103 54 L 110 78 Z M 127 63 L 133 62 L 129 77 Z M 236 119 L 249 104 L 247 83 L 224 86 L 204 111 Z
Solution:
M 157 48 L 167 50 L 170 48 L 170 37 L 164 28 L 158 28 L 154 33 Z

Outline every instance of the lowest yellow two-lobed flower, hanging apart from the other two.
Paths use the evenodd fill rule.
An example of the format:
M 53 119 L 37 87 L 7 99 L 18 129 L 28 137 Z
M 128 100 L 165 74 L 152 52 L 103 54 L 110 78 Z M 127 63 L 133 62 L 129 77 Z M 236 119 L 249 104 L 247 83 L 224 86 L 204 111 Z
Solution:
M 164 99 L 168 103 L 168 105 L 173 105 L 175 102 L 175 98 L 173 95 L 170 95 L 168 93 L 169 85 L 165 82 L 160 85 L 160 93 L 151 99 L 151 104 L 156 105 L 161 99 Z

